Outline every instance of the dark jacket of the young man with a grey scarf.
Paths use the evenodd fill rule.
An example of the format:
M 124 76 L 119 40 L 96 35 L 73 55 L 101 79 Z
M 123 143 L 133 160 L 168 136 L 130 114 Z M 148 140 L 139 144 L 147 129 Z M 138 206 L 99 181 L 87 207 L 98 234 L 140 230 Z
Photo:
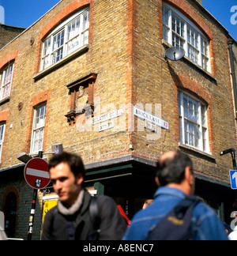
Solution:
M 93 232 L 89 215 L 91 198 L 91 195 L 85 191 L 81 208 L 74 216 L 64 216 L 55 208 L 51 209 L 44 219 L 42 240 L 68 240 L 69 221 L 74 223 L 75 240 L 88 240 L 88 235 Z M 100 216 L 99 240 L 121 240 L 126 232 L 126 222 L 120 215 L 115 202 L 103 196 L 98 197 L 97 205 Z

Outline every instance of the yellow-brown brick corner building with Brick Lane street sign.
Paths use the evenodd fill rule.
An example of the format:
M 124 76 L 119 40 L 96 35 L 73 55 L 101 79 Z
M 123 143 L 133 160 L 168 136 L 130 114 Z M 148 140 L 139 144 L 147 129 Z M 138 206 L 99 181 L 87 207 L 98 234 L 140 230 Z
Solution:
M 0 210 L 9 236 L 26 239 L 32 200 L 17 155 L 55 143 L 80 154 L 85 185 L 129 217 L 156 190 L 160 154 L 180 149 L 194 160 L 197 194 L 228 221 L 232 164 L 220 157 L 236 148 L 228 39 L 201 1 L 62 0 L 2 47 Z M 164 58 L 172 46 L 186 55 Z M 39 193 L 33 239 L 51 193 Z

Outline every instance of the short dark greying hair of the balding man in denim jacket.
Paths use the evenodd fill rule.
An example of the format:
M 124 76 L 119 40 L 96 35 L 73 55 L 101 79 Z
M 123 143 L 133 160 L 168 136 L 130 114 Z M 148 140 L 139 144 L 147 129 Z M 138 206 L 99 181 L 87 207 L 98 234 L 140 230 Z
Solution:
M 182 183 L 186 167 L 190 167 L 193 171 L 192 160 L 180 151 L 176 151 L 174 157 L 159 160 L 156 166 L 156 176 L 159 179 L 160 186 L 167 186 L 170 183 Z

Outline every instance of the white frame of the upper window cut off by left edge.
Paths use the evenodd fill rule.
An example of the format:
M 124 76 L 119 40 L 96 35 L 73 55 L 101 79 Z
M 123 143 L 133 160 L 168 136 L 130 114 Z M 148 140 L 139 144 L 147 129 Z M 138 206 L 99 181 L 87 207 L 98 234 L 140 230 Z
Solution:
M 6 83 L 4 83 L 6 80 L 6 73 L 10 69 L 11 69 L 11 73 L 10 73 L 9 80 Z M 13 72 L 14 72 L 14 62 L 9 63 L 9 65 L 6 66 L 5 69 L 0 71 L 0 101 L 10 96 L 12 83 L 13 83 Z M 4 92 L 5 88 L 7 87 L 9 87 L 8 90 Z

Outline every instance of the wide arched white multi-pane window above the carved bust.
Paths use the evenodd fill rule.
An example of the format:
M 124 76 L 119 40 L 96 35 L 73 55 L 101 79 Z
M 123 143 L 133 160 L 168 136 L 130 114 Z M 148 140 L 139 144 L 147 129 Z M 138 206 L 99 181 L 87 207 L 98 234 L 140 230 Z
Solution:
M 62 22 L 43 41 L 40 70 L 88 44 L 89 9 L 83 9 Z

